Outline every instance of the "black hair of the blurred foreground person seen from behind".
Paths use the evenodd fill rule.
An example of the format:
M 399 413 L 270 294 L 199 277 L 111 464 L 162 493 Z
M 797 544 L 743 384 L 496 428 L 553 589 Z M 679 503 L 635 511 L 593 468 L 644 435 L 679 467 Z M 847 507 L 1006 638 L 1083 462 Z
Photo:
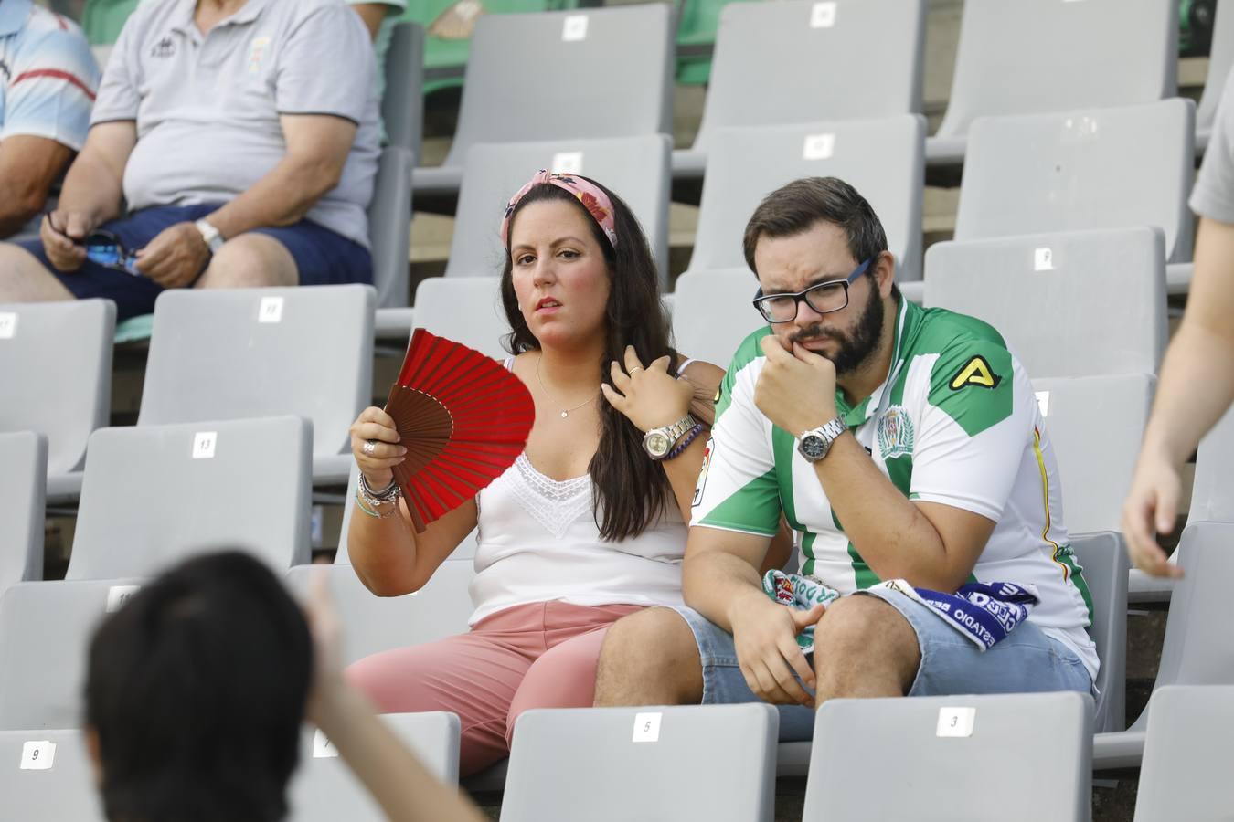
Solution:
M 284 818 L 311 677 L 304 614 L 249 555 L 200 556 L 142 587 L 90 643 L 107 818 Z

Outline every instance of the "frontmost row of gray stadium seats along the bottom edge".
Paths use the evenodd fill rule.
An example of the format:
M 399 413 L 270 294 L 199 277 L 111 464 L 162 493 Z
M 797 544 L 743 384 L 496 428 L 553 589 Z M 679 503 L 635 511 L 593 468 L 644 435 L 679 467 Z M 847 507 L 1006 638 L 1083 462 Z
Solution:
M 776 720 L 768 705 L 529 711 L 516 730 L 501 820 L 771 822 Z M 457 716 L 385 721 L 432 773 L 457 780 Z M 1234 688 L 1154 694 L 1137 822 L 1224 818 L 1232 721 Z M 803 818 L 1083 822 L 1091 726 L 1091 702 L 1077 694 L 833 701 L 816 722 Z M 1033 767 L 1012 764 L 1008 747 Z M 80 732 L 0 731 L 0 763 L 11 818 L 102 818 Z M 897 790 L 886 790 L 888 775 Z M 328 741 L 307 730 L 291 805 L 292 822 L 385 818 Z

